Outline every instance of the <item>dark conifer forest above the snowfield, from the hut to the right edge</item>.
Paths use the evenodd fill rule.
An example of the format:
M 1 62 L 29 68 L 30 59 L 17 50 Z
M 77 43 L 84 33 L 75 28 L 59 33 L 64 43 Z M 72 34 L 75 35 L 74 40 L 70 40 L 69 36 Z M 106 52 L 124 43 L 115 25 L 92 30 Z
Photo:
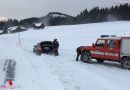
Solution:
M 99 7 L 94 7 L 90 11 L 85 9 L 79 15 L 71 19 L 54 17 L 50 20 L 50 25 L 85 24 L 119 20 L 130 20 L 130 5 L 124 4 L 101 9 L 99 9 Z

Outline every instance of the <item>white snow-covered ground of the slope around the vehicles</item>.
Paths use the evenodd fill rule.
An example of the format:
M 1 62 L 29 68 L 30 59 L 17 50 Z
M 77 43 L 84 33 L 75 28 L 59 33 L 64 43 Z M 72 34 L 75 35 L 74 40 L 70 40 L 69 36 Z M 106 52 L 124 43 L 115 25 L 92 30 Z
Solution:
M 107 22 L 45 27 L 0 36 L 0 89 L 4 83 L 6 59 L 16 61 L 14 90 L 130 90 L 130 71 L 119 63 L 76 62 L 75 49 L 91 45 L 102 34 L 129 36 L 130 22 Z M 20 45 L 19 45 L 20 36 Z M 36 56 L 33 46 L 57 38 L 60 55 Z M 10 88 L 6 88 L 10 89 Z

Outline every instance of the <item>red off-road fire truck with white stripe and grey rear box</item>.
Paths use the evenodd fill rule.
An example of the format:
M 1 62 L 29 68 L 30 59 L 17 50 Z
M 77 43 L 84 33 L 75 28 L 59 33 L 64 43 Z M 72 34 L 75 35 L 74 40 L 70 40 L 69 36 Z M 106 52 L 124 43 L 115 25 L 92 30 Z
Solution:
M 122 68 L 130 69 L 130 37 L 101 37 L 92 46 L 83 46 L 80 50 L 81 61 L 117 61 L 121 63 Z

